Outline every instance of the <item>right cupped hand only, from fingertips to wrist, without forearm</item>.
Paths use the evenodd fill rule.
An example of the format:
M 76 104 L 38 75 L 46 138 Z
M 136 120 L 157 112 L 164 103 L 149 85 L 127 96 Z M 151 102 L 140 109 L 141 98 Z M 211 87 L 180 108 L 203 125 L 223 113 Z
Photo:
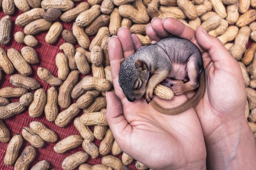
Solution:
M 146 32 L 153 43 L 174 35 L 190 40 L 200 49 L 207 84 L 204 96 L 194 108 L 206 143 L 214 138 L 214 132 L 222 125 L 245 122 L 247 99 L 243 75 L 238 62 L 218 38 L 207 34 L 201 26 L 194 31 L 174 18 L 154 18 Z M 191 97 L 191 93 L 187 95 Z

